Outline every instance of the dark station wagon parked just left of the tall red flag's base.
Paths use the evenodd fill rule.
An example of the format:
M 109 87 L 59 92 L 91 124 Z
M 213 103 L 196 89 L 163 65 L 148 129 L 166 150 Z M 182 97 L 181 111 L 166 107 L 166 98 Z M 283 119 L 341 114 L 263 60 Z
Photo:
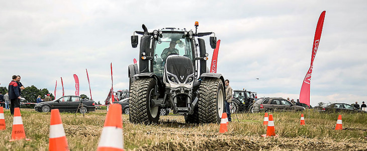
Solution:
M 253 104 L 252 113 L 267 111 L 304 111 L 302 106 L 294 105 L 283 98 L 260 98 Z

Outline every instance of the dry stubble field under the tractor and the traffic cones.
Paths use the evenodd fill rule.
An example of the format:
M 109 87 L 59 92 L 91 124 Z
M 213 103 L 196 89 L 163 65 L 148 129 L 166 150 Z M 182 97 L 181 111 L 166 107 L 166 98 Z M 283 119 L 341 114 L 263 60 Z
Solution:
M 7 129 L 0 131 L 0 150 L 48 150 L 50 113 L 21 109 L 30 141 L 10 142 L 13 117 L 5 111 Z M 263 138 L 263 113 L 232 114 L 228 132 L 220 124 L 185 124 L 184 116 L 161 116 L 159 124 L 141 125 L 122 115 L 125 150 L 367 150 L 367 114 L 342 113 L 343 130 L 334 130 L 339 113 L 275 112 L 277 138 Z M 308 118 L 310 115 L 310 118 Z M 70 150 L 97 150 L 105 110 L 83 115 L 61 113 Z M 112 138 L 111 138 L 112 139 Z

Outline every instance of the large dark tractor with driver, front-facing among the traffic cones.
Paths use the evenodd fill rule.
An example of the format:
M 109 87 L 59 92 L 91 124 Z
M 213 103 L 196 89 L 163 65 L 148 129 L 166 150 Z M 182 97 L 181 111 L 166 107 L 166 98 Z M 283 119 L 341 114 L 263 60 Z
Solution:
M 216 48 L 213 32 L 162 28 L 148 32 L 135 31 L 131 45 L 138 45 L 139 62 L 130 64 L 129 120 L 136 124 L 158 123 L 160 110 L 171 109 L 185 116 L 186 123 L 219 123 L 225 112 L 223 75 L 211 73 L 207 67 L 208 53 L 204 39 Z M 135 35 L 137 34 L 137 35 Z

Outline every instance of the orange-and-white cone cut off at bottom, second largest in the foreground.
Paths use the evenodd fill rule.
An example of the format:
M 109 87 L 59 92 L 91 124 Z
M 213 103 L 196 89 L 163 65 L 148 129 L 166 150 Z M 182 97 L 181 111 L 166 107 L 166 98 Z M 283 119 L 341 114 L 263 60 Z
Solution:
M 69 150 L 59 109 L 51 110 L 50 139 L 48 150 Z

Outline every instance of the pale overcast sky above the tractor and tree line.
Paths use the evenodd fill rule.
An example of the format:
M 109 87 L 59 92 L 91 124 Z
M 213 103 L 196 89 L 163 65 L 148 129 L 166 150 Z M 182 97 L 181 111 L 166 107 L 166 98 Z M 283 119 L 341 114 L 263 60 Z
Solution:
M 314 60 L 310 104 L 367 101 L 367 1 L 4 1 L 0 0 L 0 83 L 21 75 L 61 97 L 103 102 L 129 89 L 128 65 L 139 57 L 130 36 L 165 27 L 214 32 L 221 40 L 217 72 L 233 90 L 298 99 L 310 67 L 316 24 L 326 11 Z M 209 60 L 213 49 L 207 42 Z M 208 63 L 209 64 L 209 63 Z M 258 78 L 258 80 L 256 80 Z

